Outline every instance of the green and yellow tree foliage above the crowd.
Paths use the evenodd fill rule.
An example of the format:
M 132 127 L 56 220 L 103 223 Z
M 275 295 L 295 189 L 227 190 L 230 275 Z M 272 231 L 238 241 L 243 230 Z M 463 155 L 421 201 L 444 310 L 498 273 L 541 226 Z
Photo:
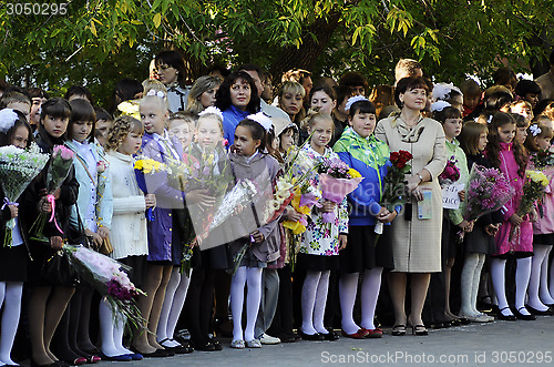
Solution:
M 147 78 L 150 60 L 164 48 L 184 51 L 193 79 L 213 62 L 256 62 L 277 72 L 358 70 L 387 83 L 403 57 L 420 60 L 439 81 L 460 82 L 465 73 L 486 77 L 501 59 L 525 70 L 552 43 L 554 24 L 545 11 L 552 0 L 47 2 L 62 1 L 63 16 L 9 14 L 1 6 L 0 78 L 54 93 L 84 84 L 104 102 L 117 80 Z M 295 50 L 309 58 L 287 60 Z

